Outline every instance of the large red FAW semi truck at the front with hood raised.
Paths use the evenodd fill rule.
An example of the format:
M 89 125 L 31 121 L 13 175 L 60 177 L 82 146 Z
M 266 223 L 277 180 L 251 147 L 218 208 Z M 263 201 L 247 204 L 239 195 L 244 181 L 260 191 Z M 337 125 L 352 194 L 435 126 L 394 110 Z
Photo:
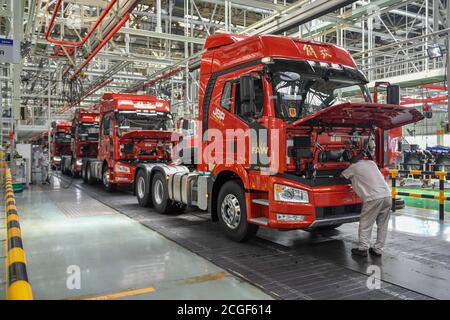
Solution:
M 389 101 L 397 104 L 373 103 L 365 75 L 335 45 L 218 34 L 207 38 L 205 49 L 198 163 L 138 164 L 140 205 L 160 213 L 180 205 L 208 210 L 236 241 L 249 239 L 259 226 L 307 229 L 357 221 L 361 200 L 341 177 L 349 158 L 364 153 L 382 168 L 383 130 L 421 120 L 421 113 L 398 105 L 398 87 L 389 90 Z M 362 102 L 341 98 L 346 89 L 358 90 Z M 217 132 L 227 130 L 240 133 L 225 138 L 226 150 L 211 151 Z M 244 150 L 235 148 L 239 139 Z M 217 156 L 239 161 L 221 163 Z

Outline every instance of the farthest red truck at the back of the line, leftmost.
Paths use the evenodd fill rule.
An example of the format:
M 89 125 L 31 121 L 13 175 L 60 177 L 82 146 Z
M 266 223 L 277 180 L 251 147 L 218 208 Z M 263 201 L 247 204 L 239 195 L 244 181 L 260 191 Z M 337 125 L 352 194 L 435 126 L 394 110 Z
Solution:
M 54 169 L 60 168 L 61 157 L 70 154 L 70 130 L 72 123 L 66 120 L 52 122 L 50 131 L 50 161 Z

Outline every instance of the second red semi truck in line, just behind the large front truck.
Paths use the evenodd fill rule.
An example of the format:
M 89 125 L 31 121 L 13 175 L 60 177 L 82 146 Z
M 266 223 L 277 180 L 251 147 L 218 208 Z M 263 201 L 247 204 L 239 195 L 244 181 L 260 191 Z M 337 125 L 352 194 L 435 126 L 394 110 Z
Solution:
M 83 159 L 85 182 L 103 182 L 112 191 L 133 184 L 135 168 L 168 163 L 174 124 L 167 101 L 154 96 L 105 93 L 100 103 L 97 159 Z

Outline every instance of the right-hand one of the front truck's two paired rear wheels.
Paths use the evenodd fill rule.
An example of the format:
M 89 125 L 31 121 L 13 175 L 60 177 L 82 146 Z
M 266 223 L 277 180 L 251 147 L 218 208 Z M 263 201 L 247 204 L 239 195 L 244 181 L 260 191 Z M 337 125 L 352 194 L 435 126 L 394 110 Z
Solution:
M 181 213 L 186 206 L 169 199 L 167 179 L 161 172 L 156 172 L 152 179 L 152 204 L 156 212 L 161 214 Z

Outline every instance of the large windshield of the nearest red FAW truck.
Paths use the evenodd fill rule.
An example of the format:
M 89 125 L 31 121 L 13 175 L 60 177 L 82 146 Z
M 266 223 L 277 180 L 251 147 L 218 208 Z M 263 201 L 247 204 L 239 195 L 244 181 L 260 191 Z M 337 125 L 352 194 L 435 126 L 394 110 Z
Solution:
M 339 103 L 371 101 L 366 77 L 354 68 L 306 61 L 282 62 L 272 66 L 271 75 L 275 113 L 286 122 Z

